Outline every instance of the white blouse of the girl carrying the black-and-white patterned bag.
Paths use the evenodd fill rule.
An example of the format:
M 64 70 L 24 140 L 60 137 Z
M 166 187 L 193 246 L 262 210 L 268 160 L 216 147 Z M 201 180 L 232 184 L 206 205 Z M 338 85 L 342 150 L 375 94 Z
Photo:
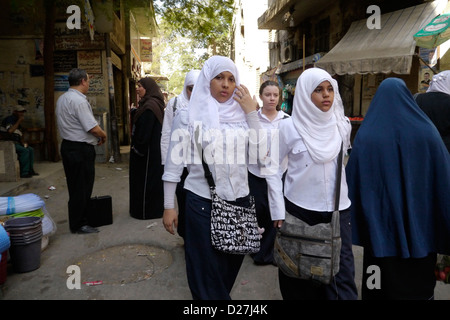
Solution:
M 255 122 L 253 127 L 259 126 L 256 112 L 247 115 L 247 122 Z M 248 132 L 247 122 L 222 124 L 222 133 L 225 131 L 235 132 L 234 142 L 231 144 L 237 151 L 227 153 L 227 144 L 230 140 L 223 139 L 220 144 L 203 144 L 203 150 L 207 162 L 214 161 L 209 168 L 212 172 L 216 184 L 217 194 L 225 200 L 234 201 L 237 198 L 245 197 L 249 194 L 247 163 L 249 159 L 248 150 L 256 143 L 251 142 L 252 138 L 244 134 Z M 174 194 L 176 183 L 180 181 L 183 171 L 183 162 L 187 165 L 189 175 L 184 182 L 184 188 L 201 196 L 210 199 L 209 185 L 205 178 L 205 172 L 198 156 L 197 148 L 194 147 L 188 132 L 188 112 L 180 110 L 173 122 L 172 138 L 169 144 L 166 163 L 164 166 L 164 208 L 175 208 Z M 175 135 L 174 135 L 175 132 Z M 222 145 L 222 148 L 220 148 Z M 228 150 L 231 150 L 228 148 Z M 186 155 L 188 155 L 186 157 Z M 184 159 L 184 161 L 180 160 Z

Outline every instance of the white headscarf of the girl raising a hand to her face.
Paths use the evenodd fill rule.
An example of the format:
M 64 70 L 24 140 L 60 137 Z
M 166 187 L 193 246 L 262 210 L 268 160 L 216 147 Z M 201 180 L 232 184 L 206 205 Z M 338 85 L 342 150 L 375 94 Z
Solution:
M 221 129 L 221 123 L 246 121 L 244 111 L 233 97 L 220 103 L 211 95 L 211 80 L 224 71 L 229 71 L 234 75 L 236 86 L 240 84 L 239 72 L 231 59 L 212 56 L 203 65 L 189 100 L 191 129 L 199 121 L 201 121 L 203 130 Z

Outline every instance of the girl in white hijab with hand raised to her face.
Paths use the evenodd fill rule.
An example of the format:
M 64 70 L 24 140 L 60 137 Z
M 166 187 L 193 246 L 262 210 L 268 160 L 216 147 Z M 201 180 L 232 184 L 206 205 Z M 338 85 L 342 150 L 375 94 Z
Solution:
M 186 273 L 194 299 L 230 299 L 230 291 L 244 255 L 227 254 L 212 247 L 211 195 L 193 133 L 196 127 L 201 129 L 198 141 L 202 144 L 218 195 L 227 201 L 248 203 L 247 159 L 241 155 L 246 155 L 249 149 L 249 139 L 246 138 L 248 123 L 255 121 L 256 126 L 259 123 L 256 106 L 248 90 L 240 85 L 239 73 L 233 61 L 213 56 L 205 62 L 195 83 L 187 110 L 189 116 L 180 119 L 184 125 L 187 124 L 190 133 L 189 174 L 184 184 L 184 240 Z M 174 123 L 173 130 L 178 127 Z M 163 224 L 172 234 L 178 224 L 173 201 L 174 185 L 179 181 L 182 171 L 176 163 L 178 153 L 174 153 L 174 150 L 178 150 L 178 143 L 172 137 L 163 175 Z

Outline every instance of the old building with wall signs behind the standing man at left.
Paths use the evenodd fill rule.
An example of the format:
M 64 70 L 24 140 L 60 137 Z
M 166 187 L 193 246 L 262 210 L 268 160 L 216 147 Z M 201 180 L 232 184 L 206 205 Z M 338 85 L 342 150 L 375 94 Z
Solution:
M 97 161 L 120 161 L 130 139 L 129 107 L 142 63 L 151 61 L 156 34 L 152 0 L 8 0 L 0 12 L 0 117 L 21 104 L 25 128 L 42 131 L 38 160 L 59 160 L 60 138 L 54 109 L 68 90 L 68 72 L 86 69 L 94 115 L 108 134 Z M 45 48 L 47 47 L 47 48 Z

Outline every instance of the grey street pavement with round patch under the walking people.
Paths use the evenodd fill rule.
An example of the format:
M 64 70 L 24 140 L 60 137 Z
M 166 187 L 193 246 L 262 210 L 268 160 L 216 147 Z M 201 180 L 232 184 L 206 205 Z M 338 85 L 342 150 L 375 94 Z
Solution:
M 183 240 L 165 231 L 162 219 L 137 220 L 128 214 L 128 162 L 96 165 L 93 195 L 111 195 L 113 224 L 96 234 L 72 234 L 68 227 L 68 192 L 61 162 L 39 162 L 39 176 L 0 183 L 0 196 L 35 193 L 45 200 L 57 226 L 41 253 L 40 268 L 14 273 L 8 266 L 0 285 L 4 300 L 191 300 L 186 280 Z M 49 190 L 54 187 L 54 190 Z M 358 290 L 362 248 L 354 246 Z M 70 289 L 71 266 L 80 270 L 80 289 Z M 68 270 L 69 268 L 69 270 Z M 68 271 L 70 273 L 68 273 Z M 83 282 L 95 283 L 86 285 Z M 233 300 L 281 300 L 277 268 L 256 266 L 247 256 Z M 437 300 L 450 299 L 450 285 L 438 283 Z

